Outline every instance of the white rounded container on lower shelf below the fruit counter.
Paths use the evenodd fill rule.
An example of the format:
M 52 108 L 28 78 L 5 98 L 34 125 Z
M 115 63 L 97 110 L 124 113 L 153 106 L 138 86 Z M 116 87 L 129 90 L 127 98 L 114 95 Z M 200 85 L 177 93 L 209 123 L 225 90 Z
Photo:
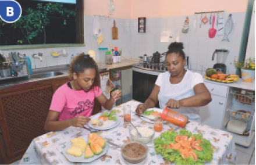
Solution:
M 234 132 L 239 135 L 246 135 L 244 133 L 246 132 L 247 126 L 247 121 L 230 119 L 227 123 L 227 131 Z

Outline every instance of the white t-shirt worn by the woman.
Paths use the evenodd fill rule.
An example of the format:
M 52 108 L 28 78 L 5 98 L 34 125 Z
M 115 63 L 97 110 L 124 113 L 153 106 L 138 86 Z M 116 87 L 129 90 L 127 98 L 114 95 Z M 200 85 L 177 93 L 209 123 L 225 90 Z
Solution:
M 187 70 L 182 81 L 178 84 L 170 83 L 170 73 L 166 71 L 165 73 L 159 74 L 155 84 L 160 87 L 158 94 L 159 106 L 161 109 L 165 109 L 166 103 L 169 99 L 175 99 L 179 101 L 184 98 L 189 98 L 194 96 L 194 86 L 200 83 L 204 83 L 201 74 L 195 73 L 193 71 Z M 201 121 L 199 116 L 198 107 L 180 107 L 179 109 L 173 109 L 176 112 L 185 114 L 190 120 Z

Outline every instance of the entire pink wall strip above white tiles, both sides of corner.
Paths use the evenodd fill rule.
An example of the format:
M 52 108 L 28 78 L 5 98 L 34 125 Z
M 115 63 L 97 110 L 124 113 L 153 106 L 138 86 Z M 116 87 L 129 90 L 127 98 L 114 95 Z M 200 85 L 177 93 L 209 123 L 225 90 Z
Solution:
M 246 12 L 248 0 L 113 0 L 115 10 L 109 15 L 108 0 L 84 0 L 85 15 L 104 15 L 123 19 L 194 15 L 194 12 L 226 10 Z

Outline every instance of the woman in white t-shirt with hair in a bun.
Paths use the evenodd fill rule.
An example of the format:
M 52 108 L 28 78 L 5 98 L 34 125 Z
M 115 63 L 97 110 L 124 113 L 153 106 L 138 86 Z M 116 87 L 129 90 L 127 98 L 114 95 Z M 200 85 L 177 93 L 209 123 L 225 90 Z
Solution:
M 159 101 L 161 109 L 177 109 L 189 117 L 189 120 L 201 122 L 198 108 L 212 101 L 201 74 L 184 69 L 186 64 L 182 42 L 173 42 L 166 53 L 168 71 L 159 74 L 151 95 L 138 105 L 136 113 L 141 114 L 155 107 Z

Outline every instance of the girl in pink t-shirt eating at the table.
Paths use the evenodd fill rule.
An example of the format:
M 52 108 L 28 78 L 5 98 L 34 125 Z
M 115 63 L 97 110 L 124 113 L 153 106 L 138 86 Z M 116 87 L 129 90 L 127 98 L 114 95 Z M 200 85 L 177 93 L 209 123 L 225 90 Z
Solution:
M 45 131 L 59 131 L 70 126 L 83 127 L 90 121 L 94 98 L 110 110 L 122 95 L 121 90 L 113 91 L 109 99 L 102 94 L 98 66 L 89 55 L 80 54 L 72 60 L 69 78 L 72 81 L 59 87 L 52 96 Z

